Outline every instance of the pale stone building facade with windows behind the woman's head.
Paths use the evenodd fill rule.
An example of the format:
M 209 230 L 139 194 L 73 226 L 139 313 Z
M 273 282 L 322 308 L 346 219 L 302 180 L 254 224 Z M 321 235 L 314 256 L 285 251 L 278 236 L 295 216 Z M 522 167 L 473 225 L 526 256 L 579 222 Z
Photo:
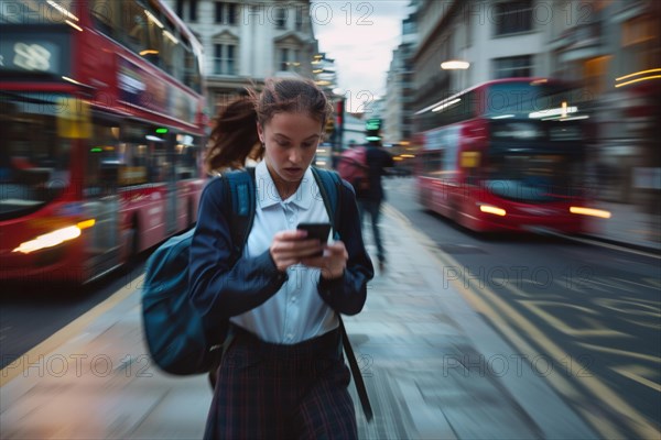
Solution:
M 313 78 L 310 1 L 165 0 L 202 42 L 208 111 L 268 77 Z

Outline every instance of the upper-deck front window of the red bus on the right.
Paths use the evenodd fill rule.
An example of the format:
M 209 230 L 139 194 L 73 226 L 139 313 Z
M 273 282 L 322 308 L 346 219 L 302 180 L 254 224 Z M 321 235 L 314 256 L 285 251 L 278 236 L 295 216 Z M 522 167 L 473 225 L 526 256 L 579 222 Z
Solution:
M 576 89 L 556 85 L 494 84 L 487 89 L 485 116 L 540 119 L 557 114 L 562 111 L 563 102 L 566 112 L 576 111 L 577 98 Z

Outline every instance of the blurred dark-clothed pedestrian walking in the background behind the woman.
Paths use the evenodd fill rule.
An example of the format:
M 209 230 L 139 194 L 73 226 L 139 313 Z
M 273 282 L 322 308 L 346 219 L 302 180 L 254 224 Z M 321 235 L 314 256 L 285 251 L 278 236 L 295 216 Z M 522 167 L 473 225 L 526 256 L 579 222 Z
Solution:
M 356 199 L 358 200 L 360 224 L 362 224 L 365 216 L 369 215 L 372 237 L 377 245 L 379 272 L 382 273 L 386 270 L 386 251 L 381 239 L 379 220 L 381 216 L 381 202 L 386 200 L 386 191 L 383 190 L 381 176 L 386 175 L 387 168 L 394 166 L 394 161 L 390 153 L 383 150 L 380 141 L 370 141 L 366 146 L 369 184 L 366 186 L 360 185 L 356 188 Z

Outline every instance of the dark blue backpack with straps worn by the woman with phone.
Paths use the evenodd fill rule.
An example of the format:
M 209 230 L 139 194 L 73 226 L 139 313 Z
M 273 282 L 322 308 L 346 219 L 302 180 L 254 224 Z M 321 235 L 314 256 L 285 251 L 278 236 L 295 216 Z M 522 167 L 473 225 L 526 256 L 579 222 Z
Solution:
M 334 238 L 339 238 L 342 180 L 337 173 L 312 167 Z M 241 256 L 252 228 L 256 206 L 254 168 L 231 172 L 220 177 L 226 183 L 230 207 L 232 258 Z M 231 337 L 229 320 L 219 322 L 213 332 L 205 331 L 202 319 L 188 300 L 188 251 L 194 230 L 169 239 L 147 263 L 142 288 L 142 323 L 151 359 L 164 372 L 176 375 L 206 374 L 217 369 Z M 368 421 L 373 418 L 360 367 L 342 317 L 342 342 L 349 362 L 354 384 Z

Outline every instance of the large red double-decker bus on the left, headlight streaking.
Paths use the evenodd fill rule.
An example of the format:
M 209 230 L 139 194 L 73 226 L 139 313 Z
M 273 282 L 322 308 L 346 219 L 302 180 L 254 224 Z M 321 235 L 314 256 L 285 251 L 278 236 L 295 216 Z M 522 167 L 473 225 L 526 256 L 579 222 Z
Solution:
M 202 47 L 162 2 L 3 2 L 0 279 L 86 283 L 196 221 Z

